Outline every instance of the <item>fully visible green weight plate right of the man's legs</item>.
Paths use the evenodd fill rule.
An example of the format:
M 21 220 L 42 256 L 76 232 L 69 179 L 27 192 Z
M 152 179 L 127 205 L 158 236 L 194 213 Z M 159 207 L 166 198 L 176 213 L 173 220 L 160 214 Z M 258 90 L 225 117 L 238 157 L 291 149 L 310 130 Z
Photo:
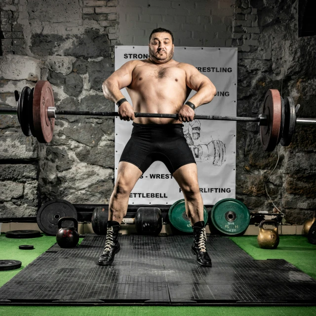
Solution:
M 237 199 L 224 198 L 213 206 L 211 220 L 221 233 L 238 235 L 249 226 L 250 213 L 247 206 Z

